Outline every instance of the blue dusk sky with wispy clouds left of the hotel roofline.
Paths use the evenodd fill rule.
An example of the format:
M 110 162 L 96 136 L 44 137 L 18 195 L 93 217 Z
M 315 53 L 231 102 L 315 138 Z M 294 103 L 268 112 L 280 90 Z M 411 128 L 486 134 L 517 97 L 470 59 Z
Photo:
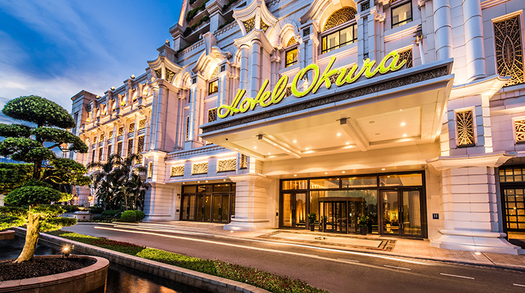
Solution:
M 139 76 L 172 40 L 182 0 L 1 0 L 0 109 L 35 94 L 68 112 L 81 90 L 103 95 Z M 0 123 L 11 123 L 0 112 Z

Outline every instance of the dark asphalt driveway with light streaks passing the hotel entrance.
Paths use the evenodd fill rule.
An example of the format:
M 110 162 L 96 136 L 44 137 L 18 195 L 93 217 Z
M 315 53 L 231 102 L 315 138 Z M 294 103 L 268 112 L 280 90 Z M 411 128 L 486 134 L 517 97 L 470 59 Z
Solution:
M 256 267 L 334 293 L 525 292 L 525 272 L 513 270 L 125 225 L 81 224 L 63 230 Z

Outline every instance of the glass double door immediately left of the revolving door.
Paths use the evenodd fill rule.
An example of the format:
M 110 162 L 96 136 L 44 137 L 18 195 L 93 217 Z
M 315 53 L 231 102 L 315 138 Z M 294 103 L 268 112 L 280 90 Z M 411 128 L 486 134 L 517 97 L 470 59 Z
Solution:
M 283 227 L 306 228 L 306 193 L 283 194 Z

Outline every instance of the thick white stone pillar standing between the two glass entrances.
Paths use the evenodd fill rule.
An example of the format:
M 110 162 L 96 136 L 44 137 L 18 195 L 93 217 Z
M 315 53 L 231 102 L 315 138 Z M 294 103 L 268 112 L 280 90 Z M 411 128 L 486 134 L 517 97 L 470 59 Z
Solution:
M 225 230 L 254 231 L 270 227 L 268 192 L 271 179 L 260 174 L 229 176 L 236 183 L 235 218 Z

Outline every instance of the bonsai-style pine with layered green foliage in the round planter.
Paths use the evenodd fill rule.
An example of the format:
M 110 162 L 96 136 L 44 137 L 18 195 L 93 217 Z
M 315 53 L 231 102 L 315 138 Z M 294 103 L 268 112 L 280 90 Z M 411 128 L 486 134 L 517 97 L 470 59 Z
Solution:
M 72 194 L 61 192 L 66 190 L 64 187 L 90 184 L 89 177 L 84 176 L 84 165 L 57 158 L 53 150 L 86 153 L 88 147 L 68 132 L 68 128 L 75 127 L 73 117 L 52 101 L 36 96 L 19 97 L 6 103 L 2 112 L 29 124 L 0 124 L 0 137 L 5 137 L 0 142 L 0 155 L 30 163 L 27 166 L 32 169 L 28 170 L 29 174 L 21 167 L 16 174 L 0 172 L 1 182 L 13 182 L 3 186 L 3 192 L 9 191 L 9 187 L 12 190 L 4 198 L 8 206 L 0 208 L 0 230 L 27 225 L 26 243 L 15 261 L 21 263 L 35 254 L 39 232 L 75 225 L 75 219 L 57 217 L 64 209 L 51 204 L 71 199 Z M 3 168 L 10 166 L 3 165 Z

